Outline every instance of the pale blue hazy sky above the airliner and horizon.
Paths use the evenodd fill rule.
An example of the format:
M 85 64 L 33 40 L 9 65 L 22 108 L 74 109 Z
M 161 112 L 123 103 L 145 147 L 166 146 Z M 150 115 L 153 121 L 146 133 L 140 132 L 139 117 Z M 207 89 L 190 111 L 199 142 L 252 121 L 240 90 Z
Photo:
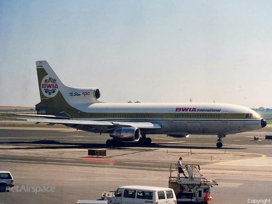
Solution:
M 272 108 L 272 1 L 0 1 L 0 105 L 40 102 L 35 61 L 104 102 Z

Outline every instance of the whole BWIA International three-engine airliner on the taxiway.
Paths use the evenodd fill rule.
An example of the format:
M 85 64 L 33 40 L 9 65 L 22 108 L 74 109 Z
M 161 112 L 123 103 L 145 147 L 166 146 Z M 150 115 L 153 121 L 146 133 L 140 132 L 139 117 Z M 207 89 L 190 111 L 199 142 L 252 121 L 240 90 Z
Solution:
M 98 88 L 72 88 L 64 85 L 47 61 L 37 61 L 40 103 L 38 117 L 28 122 L 63 124 L 94 133 L 108 133 L 108 146 L 118 142 L 151 144 L 147 134 L 175 138 L 192 134 L 222 138 L 264 128 L 267 121 L 254 110 L 225 103 L 105 103 Z M 25 115 L 25 114 L 19 114 Z M 29 114 L 30 115 L 30 114 Z M 31 115 L 30 115 L 31 116 Z

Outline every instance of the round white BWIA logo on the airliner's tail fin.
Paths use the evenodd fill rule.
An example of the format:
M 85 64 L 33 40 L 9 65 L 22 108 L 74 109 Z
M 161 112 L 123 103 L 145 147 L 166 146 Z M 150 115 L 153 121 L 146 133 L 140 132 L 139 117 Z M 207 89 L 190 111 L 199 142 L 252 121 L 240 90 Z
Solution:
M 46 96 L 47 98 L 52 98 L 56 96 L 59 91 L 57 80 L 49 77 L 48 75 L 43 78 L 40 87 L 44 96 Z

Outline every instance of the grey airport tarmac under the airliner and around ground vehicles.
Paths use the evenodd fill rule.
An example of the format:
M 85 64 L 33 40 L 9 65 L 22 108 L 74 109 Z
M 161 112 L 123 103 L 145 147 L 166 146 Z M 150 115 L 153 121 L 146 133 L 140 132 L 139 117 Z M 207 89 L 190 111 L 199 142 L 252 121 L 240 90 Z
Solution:
M 216 135 L 170 138 L 151 135 L 149 147 L 107 148 L 107 134 L 57 126 L 0 125 L 0 170 L 15 177 L 17 190 L 0 193 L 0 204 L 76 203 L 99 199 L 103 191 L 123 185 L 168 186 L 170 163 L 200 164 L 204 177 L 216 180 L 209 203 L 252 203 L 272 200 L 270 130 L 227 135 L 216 147 Z M 261 141 L 252 141 L 259 136 Z M 89 157 L 88 149 L 106 150 Z M 54 187 L 29 192 L 29 187 Z M 50 189 L 50 188 L 47 188 Z M 264 203 L 264 202 L 259 202 Z

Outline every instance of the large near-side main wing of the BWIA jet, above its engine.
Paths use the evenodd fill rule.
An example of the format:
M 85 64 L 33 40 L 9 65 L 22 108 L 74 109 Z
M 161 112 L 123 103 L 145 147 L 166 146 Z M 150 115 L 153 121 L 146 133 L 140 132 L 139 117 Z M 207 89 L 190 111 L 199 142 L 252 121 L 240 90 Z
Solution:
M 161 126 L 151 122 L 118 122 L 92 120 L 63 120 L 63 119 L 27 119 L 28 122 L 63 124 L 69 127 L 91 132 L 106 132 L 116 128 L 136 127 L 139 129 L 159 129 Z

